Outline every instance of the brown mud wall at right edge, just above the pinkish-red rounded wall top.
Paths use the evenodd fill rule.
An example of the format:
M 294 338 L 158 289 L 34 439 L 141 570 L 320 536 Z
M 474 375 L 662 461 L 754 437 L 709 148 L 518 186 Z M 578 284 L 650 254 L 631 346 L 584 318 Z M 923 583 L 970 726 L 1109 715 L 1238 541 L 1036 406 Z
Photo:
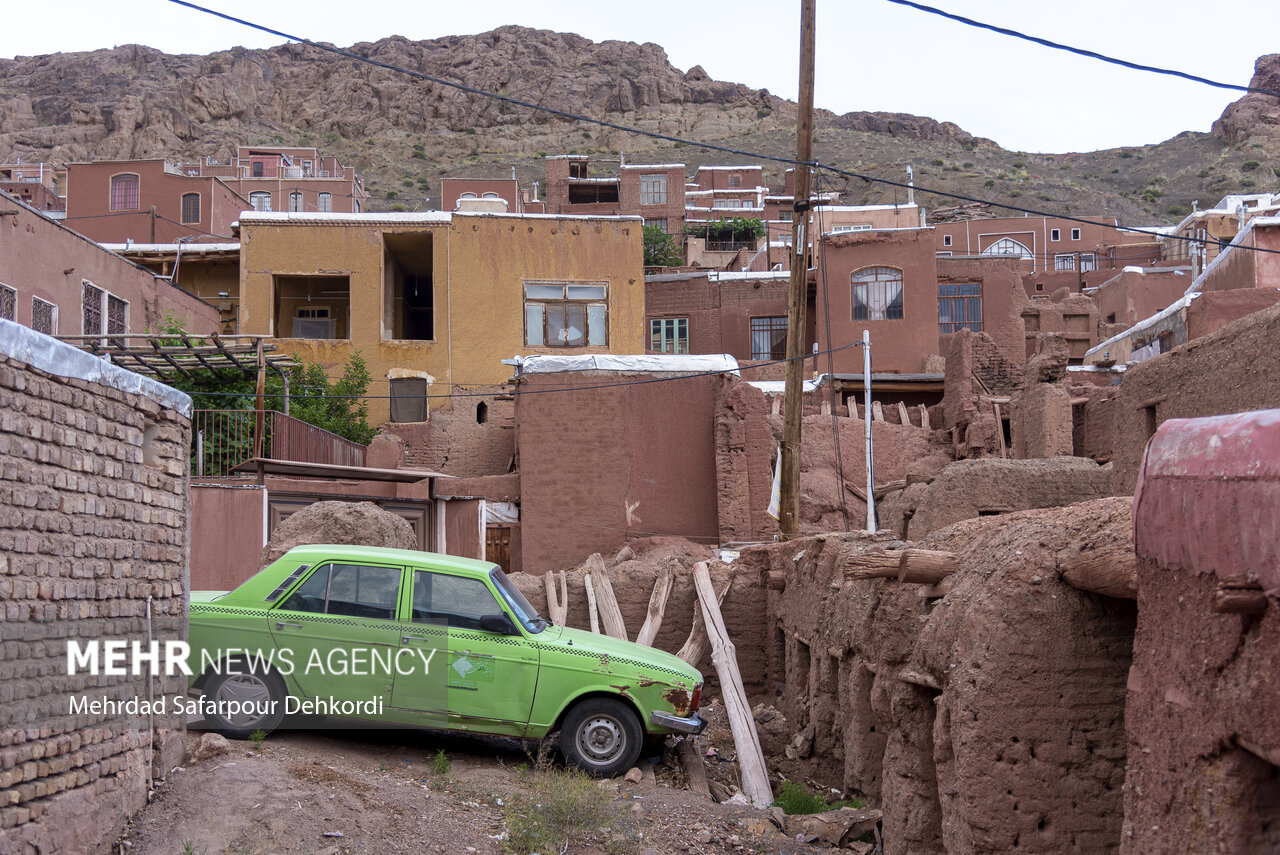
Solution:
M 1280 305 L 1130 366 L 1115 404 L 1115 493 L 1133 493 L 1147 440 L 1166 420 L 1280 407 L 1277 340 Z

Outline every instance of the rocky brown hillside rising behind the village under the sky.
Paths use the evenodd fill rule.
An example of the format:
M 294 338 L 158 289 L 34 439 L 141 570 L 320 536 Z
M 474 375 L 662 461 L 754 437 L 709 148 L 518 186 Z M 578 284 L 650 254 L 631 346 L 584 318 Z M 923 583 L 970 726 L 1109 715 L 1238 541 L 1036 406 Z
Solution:
M 767 155 L 794 152 L 795 104 L 701 68 L 682 73 L 652 44 L 591 42 L 502 27 L 476 36 L 360 44 L 353 52 L 431 77 L 567 113 Z M 1258 60 L 1275 86 L 1280 56 Z M 1266 83 L 1271 81 L 1271 83 Z M 951 123 L 883 114 L 822 113 L 815 155 L 841 168 L 948 192 L 1128 221 L 1178 219 L 1236 189 L 1280 184 L 1275 99 L 1248 96 L 1213 133 L 1071 155 L 1025 155 Z M 314 47 L 236 49 L 209 56 L 124 46 L 88 54 L 0 59 L 0 163 L 86 159 L 218 159 L 237 143 L 310 145 L 355 164 L 376 206 L 438 202 L 444 175 L 543 178 L 544 154 L 581 151 L 690 168 L 744 159 L 696 146 L 584 125 L 415 79 Z M 751 159 L 746 159 L 750 161 Z M 769 168 L 777 179 L 781 166 Z M 849 202 L 902 192 L 838 182 Z M 931 207 L 946 204 L 922 193 Z

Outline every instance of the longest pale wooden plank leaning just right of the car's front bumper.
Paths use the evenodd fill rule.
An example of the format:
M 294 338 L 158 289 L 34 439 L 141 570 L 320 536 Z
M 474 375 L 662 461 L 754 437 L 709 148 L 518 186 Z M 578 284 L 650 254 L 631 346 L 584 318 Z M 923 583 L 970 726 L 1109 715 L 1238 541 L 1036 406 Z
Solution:
M 813 3 L 813 0 L 804 1 Z M 756 808 L 767 808 L 773 801 L 769 772 L 764 765 L 760 736 L 755 732 L 751 704 L 742 687 L 742 675 L 737 669 L 737 650 L 728 637 L 728 630 L 724 628 L 724 618 L 721 616 L 719 603 L 712 589 L 707 562 L 700 561 L 694 564 L 694 587 L 698 589 L 698 602 L 707 616 L 707 636 L 712 643 L 712 663 L 719 677 L 724 712 L 728 713 L 730 730 L 733 732 L 733 750 L 737 754 L 737 765 L 742 774 L 742 792 Z

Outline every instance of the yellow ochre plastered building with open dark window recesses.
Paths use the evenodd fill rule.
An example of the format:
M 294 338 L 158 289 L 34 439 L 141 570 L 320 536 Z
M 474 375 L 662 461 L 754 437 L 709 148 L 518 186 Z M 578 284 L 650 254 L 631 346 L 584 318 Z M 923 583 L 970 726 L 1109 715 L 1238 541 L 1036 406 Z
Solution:
M 380 424 L 385 396 L 408 388 L 392 379 L 429 375 L 439 396 L 507 381 L 502 361 L 516 355 L 643 353 L 641 227 L 637 216 L 246 211 L 239 332 L 332 370 L 358 349 Z

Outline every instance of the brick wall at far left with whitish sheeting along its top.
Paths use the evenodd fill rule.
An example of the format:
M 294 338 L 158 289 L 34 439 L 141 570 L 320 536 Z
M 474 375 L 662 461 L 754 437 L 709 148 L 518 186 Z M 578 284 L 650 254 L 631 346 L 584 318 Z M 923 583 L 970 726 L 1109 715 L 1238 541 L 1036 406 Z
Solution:
M 173 717 L 152 736 L 145 718 L 72 714 L 72 696 L 147 686 L 69 676 L 67 648 L 145 643 L 148 596 L 154 637 L 186 637 L 189 406 L 0 321 L 0 851 L 105 850 L 180 760 Z M 159 676 L 152 692 L 184 687 Z

